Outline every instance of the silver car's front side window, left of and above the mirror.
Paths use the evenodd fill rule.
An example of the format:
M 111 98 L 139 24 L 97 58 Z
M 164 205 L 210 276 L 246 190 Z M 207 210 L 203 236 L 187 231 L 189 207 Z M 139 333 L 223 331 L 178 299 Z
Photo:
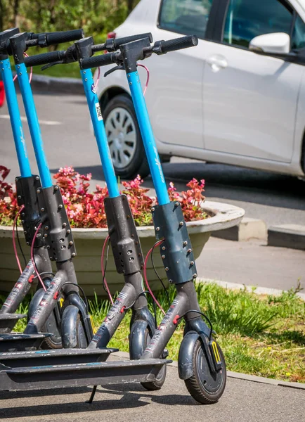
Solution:
M 223 42 L 248 47 L 258 35 L 290 34 L 292 8 L 280 0 L 231 0 L 223 31 Z

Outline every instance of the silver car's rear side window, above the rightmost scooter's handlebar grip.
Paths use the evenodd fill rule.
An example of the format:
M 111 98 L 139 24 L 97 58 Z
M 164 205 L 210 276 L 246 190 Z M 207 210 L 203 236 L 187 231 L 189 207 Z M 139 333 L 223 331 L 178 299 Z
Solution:
M 213 0 L 163 0 L 159 27 L 179 34 L 205 38 Z

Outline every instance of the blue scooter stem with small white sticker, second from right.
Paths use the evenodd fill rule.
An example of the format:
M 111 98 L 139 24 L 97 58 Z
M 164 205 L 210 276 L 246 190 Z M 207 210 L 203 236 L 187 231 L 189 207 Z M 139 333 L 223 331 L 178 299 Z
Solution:
M 115 177 L 115 170 L 112 165 L 105 126 L 100 111 L 100 103 L 96 95 L 91 69 L 81 70 L 81 75 L 109 196 L 110 198 L 117 198 L 119 196 L 119 186 L 117 185 L 117 178 Z

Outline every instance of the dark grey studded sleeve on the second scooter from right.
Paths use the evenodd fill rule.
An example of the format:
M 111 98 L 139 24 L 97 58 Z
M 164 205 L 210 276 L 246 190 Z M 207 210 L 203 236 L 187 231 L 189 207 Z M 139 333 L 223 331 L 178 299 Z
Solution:
M 105 198 L 110 243 L 119 274 L 143 269 L 143 253 L 126 195 Z

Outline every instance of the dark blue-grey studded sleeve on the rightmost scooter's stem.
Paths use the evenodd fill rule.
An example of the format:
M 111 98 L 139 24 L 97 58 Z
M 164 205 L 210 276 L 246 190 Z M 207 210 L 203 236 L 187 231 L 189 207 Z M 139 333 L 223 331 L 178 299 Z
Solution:
M 179 202 L 152 207 L 152 220 L 169 283 L 181 284 L 197 277 L 193 248 Z

